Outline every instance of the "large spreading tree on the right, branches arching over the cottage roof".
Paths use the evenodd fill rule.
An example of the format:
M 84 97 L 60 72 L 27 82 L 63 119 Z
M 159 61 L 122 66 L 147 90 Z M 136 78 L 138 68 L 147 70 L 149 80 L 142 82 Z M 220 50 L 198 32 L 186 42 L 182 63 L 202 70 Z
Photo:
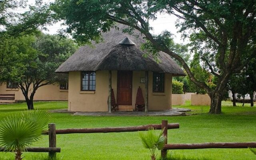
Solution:
M 107 32 L 117 23 L 140 31 L 152 54 L 166 52 L 182 64 L 190 80 L 204 88 L 211 98 L 210 113 L 221 113 L 223 91 L 228 79 L 239 72 L 248 59 L 256 53 L 253 48 L 256 25 L 256 2 L 254 0 L 56 0 L 52 9 L 56 17 L 65 20 L 66 32 L 81 42 L 100 40 L 100 32 Z M 180 32 L 192 32 L 192 46 L 196 47 L 211 74 L 218 77 L 214 89 L 194 77 L 184 59 L 170 49 L 170 34 L 154 36 L 148 19 L 155 20 L 156 13 L 174 14 L 182 19 Z M 252 52 L 244 52 L 250 48 Z

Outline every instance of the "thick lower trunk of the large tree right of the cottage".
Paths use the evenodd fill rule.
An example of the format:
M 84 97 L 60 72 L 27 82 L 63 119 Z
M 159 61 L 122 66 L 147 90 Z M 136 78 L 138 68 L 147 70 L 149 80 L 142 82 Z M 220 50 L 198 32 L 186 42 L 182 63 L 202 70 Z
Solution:
M 222 93 L 213 91 L 211 96 L 210 113 L 220 114 L 221 113 L 221 101 L 223 99 Z

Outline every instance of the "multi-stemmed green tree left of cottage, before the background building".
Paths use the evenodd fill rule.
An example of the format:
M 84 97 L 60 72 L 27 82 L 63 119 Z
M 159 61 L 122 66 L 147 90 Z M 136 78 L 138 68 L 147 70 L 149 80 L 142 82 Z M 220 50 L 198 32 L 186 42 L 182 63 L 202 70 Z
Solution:
M 26 68 L 18 72 L 18 78 L 10 79 L 18 83 L 28 110 L 34 109 L 33 98 L 38 88 L 67 80 L 66 74 L 55 74 L 54 71 L 77 49 L 73 40 L 65 37 L 41 33 L 35 38 L 32 47 L 36 55 L 30 62 L 25 62 Z

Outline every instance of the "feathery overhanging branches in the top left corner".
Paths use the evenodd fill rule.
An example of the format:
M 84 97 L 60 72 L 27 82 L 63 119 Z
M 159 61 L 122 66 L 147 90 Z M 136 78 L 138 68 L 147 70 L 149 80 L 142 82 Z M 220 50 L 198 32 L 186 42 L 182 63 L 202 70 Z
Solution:
M 39 26 L 52 22 L 49 5 L 36 0 L 27 12 L 17 13 L 17 8 L 26 8 L 26 0 L 0 1 L 0 34 L 20 36 L 34 32 Z

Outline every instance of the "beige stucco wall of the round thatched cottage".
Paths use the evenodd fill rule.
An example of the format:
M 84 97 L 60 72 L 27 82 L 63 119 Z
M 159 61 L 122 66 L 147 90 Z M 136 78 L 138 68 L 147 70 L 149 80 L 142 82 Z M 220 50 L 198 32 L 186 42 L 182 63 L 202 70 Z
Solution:
M 145 77 L 144 71 L 133 71 L 132 75 L 132 108 L 135 109 L 138 87 L 142 88 L 145 99 L 145 84 L 140 78 Z M 165 74 L 164 93 L 152 93 L 152 72 L 149 72 L 148 83 L 148 109 L 166 110 L 171 108 L 172 75 Z M 108 111 L 108 71 L 96 71 L 96 91 L 80 91 L 81 72 L 69 72 L 68 110 L 81 112 L 107 112 Z M 112 88 L 116 98 L 117 71 L 112 71 Z

